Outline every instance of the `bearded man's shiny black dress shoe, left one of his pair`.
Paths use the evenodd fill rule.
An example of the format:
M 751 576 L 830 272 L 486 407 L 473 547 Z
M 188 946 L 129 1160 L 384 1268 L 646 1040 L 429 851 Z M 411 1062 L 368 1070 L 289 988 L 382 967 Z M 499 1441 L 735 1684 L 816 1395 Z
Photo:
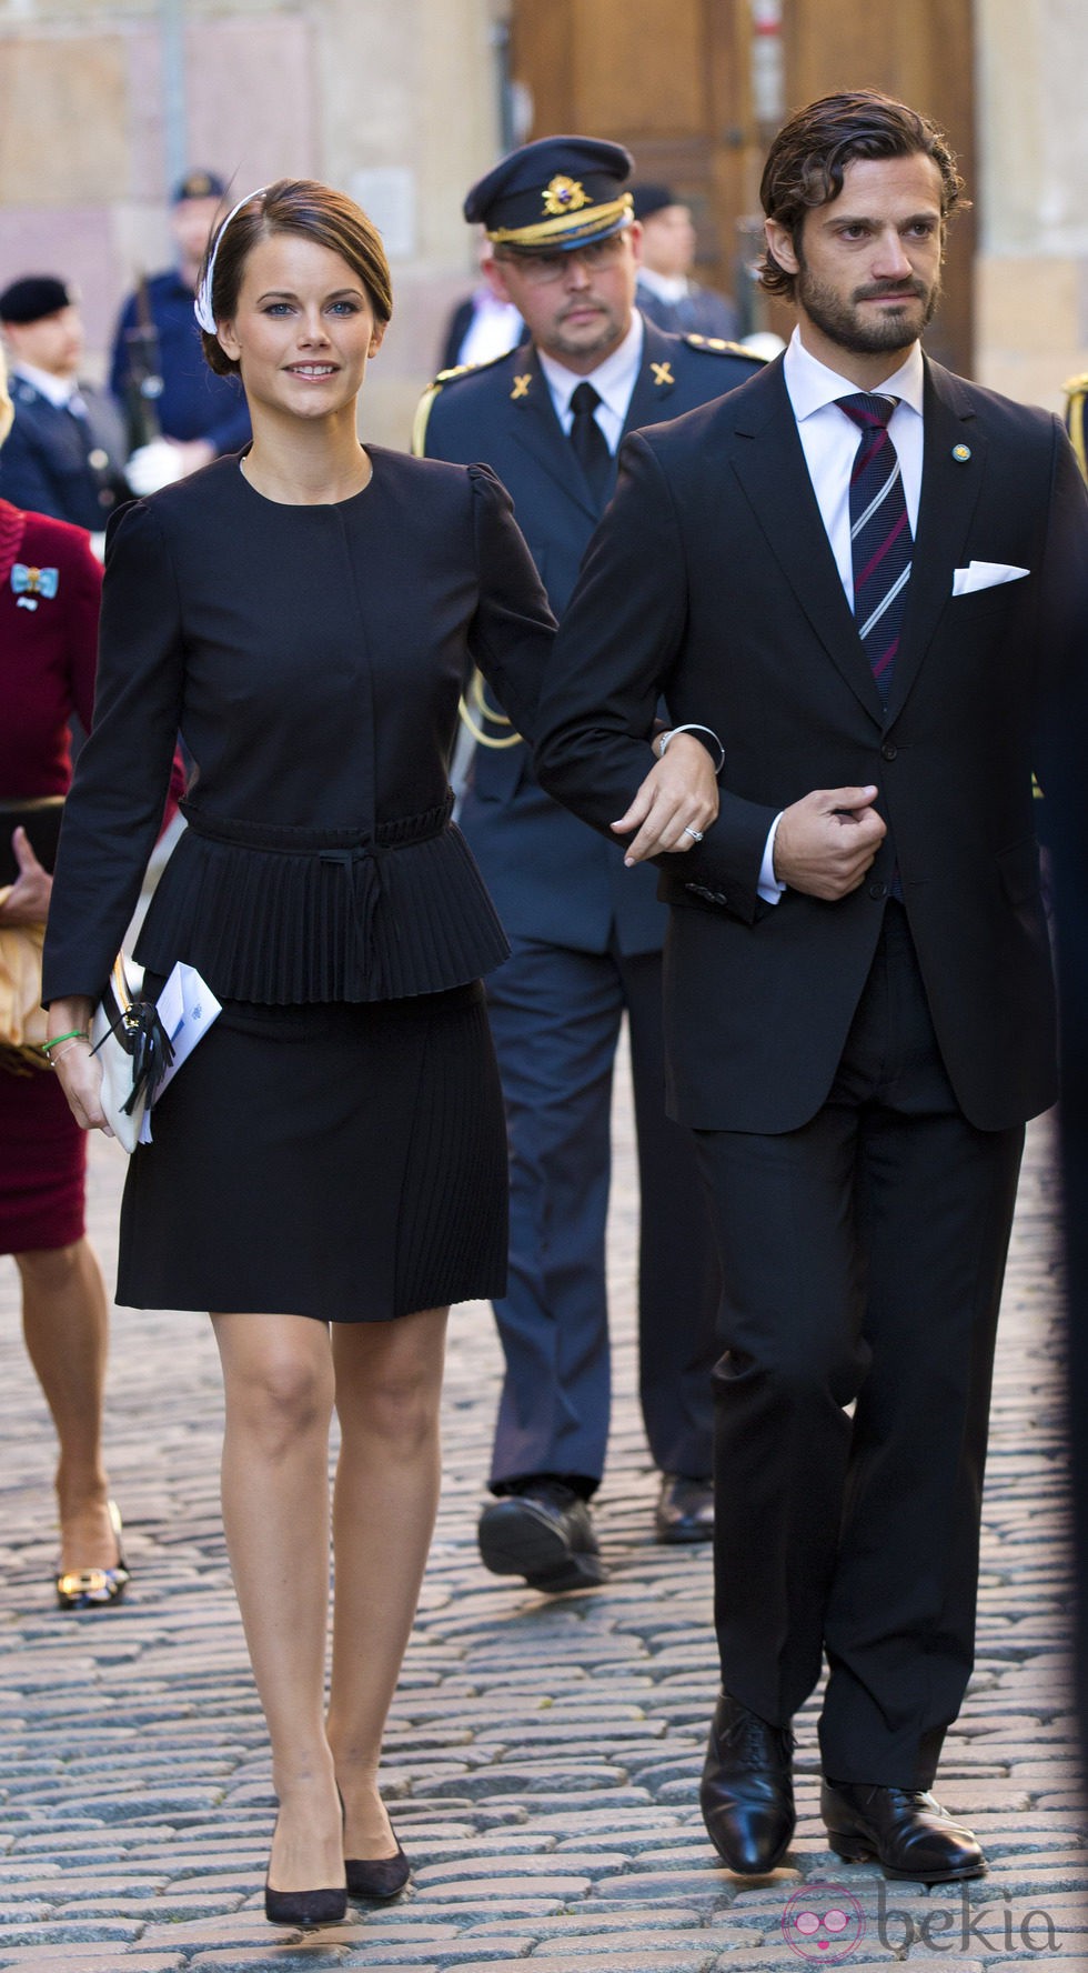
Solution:
M 794 1833 L 792 1732 L 721 1693 L 710 1726 L 700 1788 L 704 1823 L 721 1863 L 765 1876 Z

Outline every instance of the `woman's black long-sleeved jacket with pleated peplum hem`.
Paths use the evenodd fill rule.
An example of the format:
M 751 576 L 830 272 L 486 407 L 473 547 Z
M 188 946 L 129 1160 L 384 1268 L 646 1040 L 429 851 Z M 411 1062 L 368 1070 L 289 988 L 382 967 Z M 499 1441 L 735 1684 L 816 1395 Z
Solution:
M 432 992 L 505 937 L 449 825 L 457 698 L 479 665 L 532 730 L 552 616 L 487 468 L 371 448 L 335 505 L 264 499 L 235 456 L 110 533 L 95 728 L 61 831 L 45 998 L 97 994 L 195 762 L 136 957 L 221 998 Z

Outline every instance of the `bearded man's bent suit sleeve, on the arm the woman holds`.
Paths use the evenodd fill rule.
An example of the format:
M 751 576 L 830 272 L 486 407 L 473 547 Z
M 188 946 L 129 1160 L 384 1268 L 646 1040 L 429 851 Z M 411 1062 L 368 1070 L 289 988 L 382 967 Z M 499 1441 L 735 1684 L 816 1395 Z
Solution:
M 662 466 L 635 432 L 625 440 L 615 499 L 564 614 L 534 730 L 542 785 L 611 842 L 611 823 L 629 809 L 652 766 L 646 746 L 658 698 L 670 698 L 686 627 L 682 529 Z M 725 625 L 721 647 L 725 661 Z M 717 821 L 704 840 L 654 862 L 751 923 L 777 813 L 721 789 Z

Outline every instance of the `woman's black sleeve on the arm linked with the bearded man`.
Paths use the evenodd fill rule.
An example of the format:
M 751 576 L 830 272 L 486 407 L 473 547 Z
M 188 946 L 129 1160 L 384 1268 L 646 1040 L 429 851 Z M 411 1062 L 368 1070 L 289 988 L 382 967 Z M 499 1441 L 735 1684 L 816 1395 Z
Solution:
M 532 740 L 556 620 L 507 487 L 489 466 L 469 466 L 469 483 L 479 584 L 469 653 L 514 730 Z

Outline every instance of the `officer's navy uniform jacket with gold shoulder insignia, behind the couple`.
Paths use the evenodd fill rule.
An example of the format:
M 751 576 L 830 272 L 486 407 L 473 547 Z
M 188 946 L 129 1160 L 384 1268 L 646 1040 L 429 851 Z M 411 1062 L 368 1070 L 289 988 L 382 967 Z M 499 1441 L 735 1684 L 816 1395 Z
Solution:
M 706 404 L 757 369 L 761 363 L 733 345 L 664 335 L 646 324 L 625 432 Z M 440 377 L 420 406 L 416 450 L 461 464 L 483 460 L 499 474 L 562 618 L 599 515 L 534 347 L 522 343 L 497 363 Z M 495 708 L 493 698 L 487 704 Z M 623 848 L 560 809 L 536 781 L 530 750 L 505 746 L 510 728 L 481 712 L 479 696 L 475 704 L 469 698 L 469 716 L 501 744 L 477 744 L 461 829 L 507 931 L 578 951 L 607 951 L 613 937 L 625 953 L 660 951 L 666 913 L 654 874 L 625 870 Z

